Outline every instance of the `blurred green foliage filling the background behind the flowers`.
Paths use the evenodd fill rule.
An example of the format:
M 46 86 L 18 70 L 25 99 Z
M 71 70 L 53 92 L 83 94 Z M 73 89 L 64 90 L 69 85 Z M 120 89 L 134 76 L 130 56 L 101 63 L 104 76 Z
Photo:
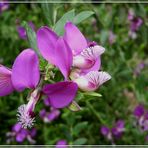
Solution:
M 52 4 L 50 4 L 52 5 Z M 145 67 L 138 77 L 133 75 L 137 64 L 148 64 L 148 5 L 147 4 L 54 4 L 54 9 L 43 11 L 41 4 L 10 4 L 10 8 L 0 14 L 0 59 L 3 65 L 11 67 L 15 57 L 30 47 L 27 40 L 19 38 L 16 19 L 32 21 L 36 28 L 43 25 L 53 27 L 64 13 L 75 9 L 93 11 L 94 15 L 81 22 L 78 27 L 85 36 L 106 48 L 102 55 L 102 70 L 111 74 L 112 79 L 98 92 L 102 97 L 79 95 L 80 112 L 61 110 L 61 116 L 45 124 L 39 118 L 40 109 L 44 108 L 42 100 L 36 108 L 37 128 L 36 144 L 55 144 L 66 139 L 69 144 L 110 144 L 100 133 L 103 124 L 111 127 L 117 119 L 123 119 L 126 131 L 116 144 L 147 144 L 145 135 L 133 127 L 133 109 L 143 103 L 148 107 L 148 69 Z M 44 7 L 45 8 L 45 7 Z M 51 6 L 50 6 L 51 8 Z M 135 40 L 129 38 L 128 10 L 132 8 L 143 24 Z M 57 19 L 52 19 L 57 12 Z M 48 12 L 48 13 L 47 13 Z M 46 15 L 44 15 L 44 13 Z M 47 19 L 48 17 L 49 20 Z M 52 21 L 50 21 L 52 20 Z M 94 25 L 95 22 L 95 25 Z M 109 31 L 116 34 L 116 42 L 109 44 Z M 26 102 L 28 90 L 23 94 L 13 94 L 0 98 L 0 144 L 6 144 L 6 133 L 11 130 L 16 120 L 18 106 Z M 90 106 L 91 104 L 91 106 Z M 18 143 L 13 143 L 18 144 Z M 28 144 L 25 141 L 23 144 Z

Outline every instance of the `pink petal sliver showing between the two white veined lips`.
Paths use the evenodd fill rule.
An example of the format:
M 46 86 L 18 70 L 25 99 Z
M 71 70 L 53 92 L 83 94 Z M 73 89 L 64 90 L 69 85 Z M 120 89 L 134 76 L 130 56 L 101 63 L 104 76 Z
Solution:
M 99 57 L 96 60 L 95 64 L 91 68 L 82 70 L 82 73 L 87 74 L 90 71 L 98 71 L 100 69 L 100 66 L 101 66 L 101 57 Z

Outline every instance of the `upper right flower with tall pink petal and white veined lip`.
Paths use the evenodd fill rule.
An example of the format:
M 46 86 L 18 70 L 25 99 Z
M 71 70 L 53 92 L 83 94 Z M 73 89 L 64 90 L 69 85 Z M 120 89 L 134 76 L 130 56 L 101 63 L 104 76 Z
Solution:
M 73 66 L 85 72 L 99 70 L 100 55 L 105 48 L 94 42 L 88 43 L 81 31 L 71 22 L 65 25 L 64 39 L 73 53 Z

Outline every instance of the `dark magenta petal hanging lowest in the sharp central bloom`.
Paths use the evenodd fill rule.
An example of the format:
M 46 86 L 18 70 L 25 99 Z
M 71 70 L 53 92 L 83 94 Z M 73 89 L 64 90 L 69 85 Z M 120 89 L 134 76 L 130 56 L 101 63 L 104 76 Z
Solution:
M 54 108 L 64 108 L 75 98 L 78 86 L 74 82 L 58 82 L 47 84 L 43 88 L 44 94 L 49 97 L 50 104 Z

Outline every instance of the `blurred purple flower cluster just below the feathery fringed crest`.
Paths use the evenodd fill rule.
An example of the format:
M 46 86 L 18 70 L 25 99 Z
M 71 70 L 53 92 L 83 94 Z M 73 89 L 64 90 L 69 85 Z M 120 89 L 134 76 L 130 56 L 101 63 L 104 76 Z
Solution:
M 36 129 L 33 128 L 30 131 L 28 129 L 24 129 L 21 127 L 21 124 L 15 124 L 12 127 L 11 132 L 6 134 L 7 143 L 18 142 L 22 143 L 27 140 L 30 144 L 35 144 L 35 140 L 33 139 L 36 136 Z

